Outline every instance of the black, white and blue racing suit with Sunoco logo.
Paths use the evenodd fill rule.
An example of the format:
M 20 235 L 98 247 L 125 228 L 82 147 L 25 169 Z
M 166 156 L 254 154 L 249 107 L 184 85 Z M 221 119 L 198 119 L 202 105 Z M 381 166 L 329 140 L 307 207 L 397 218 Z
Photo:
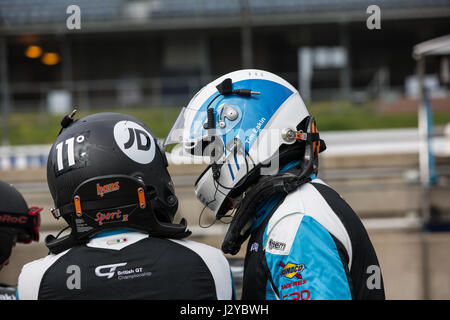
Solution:
M 258 209 L 248 242 L 242 299 L 384 299 L 368 234 L 320 179 Z

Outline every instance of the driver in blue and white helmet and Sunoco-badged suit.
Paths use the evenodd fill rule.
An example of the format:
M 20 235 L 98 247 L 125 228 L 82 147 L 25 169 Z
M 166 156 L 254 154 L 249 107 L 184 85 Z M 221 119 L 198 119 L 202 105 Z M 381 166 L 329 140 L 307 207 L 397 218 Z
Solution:
M 317 177 L 325 142 L 288 82 L 253 69 L 218 78 L 183 108 L 172 144 L 172 156 L 209 161 L 195 193 L 216 219 L 232 217 L 222 251 L 248 239 L 242 299 L 385 298 L 363 224 Z

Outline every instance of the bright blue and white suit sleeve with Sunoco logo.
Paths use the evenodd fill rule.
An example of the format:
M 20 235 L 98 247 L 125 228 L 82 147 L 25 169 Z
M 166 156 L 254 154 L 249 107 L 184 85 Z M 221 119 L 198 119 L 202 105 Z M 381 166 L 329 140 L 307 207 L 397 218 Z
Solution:
M 286 236 L 292 235 L 286 232 L 292 232 L 296 226 L 289 243 Z M 286 236 L 277 237 L 281 232 Z M 266 229 L 263 243 L 270 272 L 266 299 L 352 299 L 346 267 L 335 240 L 314 218 L 304 214 L 283 217 L 272 230 Z

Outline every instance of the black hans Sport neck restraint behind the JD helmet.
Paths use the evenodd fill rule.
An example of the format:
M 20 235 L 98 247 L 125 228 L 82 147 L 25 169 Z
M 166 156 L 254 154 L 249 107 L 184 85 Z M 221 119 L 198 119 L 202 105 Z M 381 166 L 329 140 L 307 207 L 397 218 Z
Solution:
M 109 175 L 89 179 L 80 184 L 73 196 L 73 202 L 53 209 L 56 218 L 65 216 L 71 233 L 62 238 L 52 235 L 45 239 L 46 246 L 54 253 L 89 241 L 89 238 L 103 230 L 134 229 L 160 238 L 185 238 L 191 234 L 186 229 L 186 220 L 180 224 L 159 221 L 155 216 L 157 203 L 164 201 L 143 181 L 126 175 Z M 178 206 L 171 197 L 166 205 Z

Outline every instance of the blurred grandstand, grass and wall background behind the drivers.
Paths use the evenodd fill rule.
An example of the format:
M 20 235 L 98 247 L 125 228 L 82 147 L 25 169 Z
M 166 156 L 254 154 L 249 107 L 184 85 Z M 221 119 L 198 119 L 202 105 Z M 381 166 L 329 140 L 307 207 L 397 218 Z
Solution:
M 64 227 L 45 168 L 64 114 L 128 113 L 164 138 L 242 68 L 299 89 L 328 146 L 319 177 L 368 229 L 387 298 L 450 299 L 450 0 L 0 0 L 0 180 L 44 207 L 41 241 L 18 244 L 0 282 Z M 203 169 L 170 166 L 177 219 L 220 248 L 227 225 L 199 226 Z M 227 257 L 238 294 L 243 256 Z

